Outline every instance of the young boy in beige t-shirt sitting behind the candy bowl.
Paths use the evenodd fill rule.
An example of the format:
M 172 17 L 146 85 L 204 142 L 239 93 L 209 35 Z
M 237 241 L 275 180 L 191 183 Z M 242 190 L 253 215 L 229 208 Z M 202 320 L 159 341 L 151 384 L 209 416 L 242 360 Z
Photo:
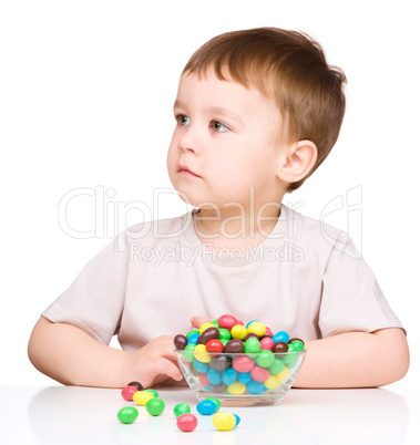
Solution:
M 306 341 L 295 386 L 401 379 L 404 331 L 351 239 L 281 204 L 332 148 L 345 83 L 318 43 L 276 28 L 225 33 L 193 54 L 167 168 L 196 208 L 131 227 L 90 261 L 35 324 L 34 366 L 70 385 L 180 381 L 173 334 L 188 315 L 197 327 L 232 313 Z M 122 351 L 107 346 L 114 334 Z

